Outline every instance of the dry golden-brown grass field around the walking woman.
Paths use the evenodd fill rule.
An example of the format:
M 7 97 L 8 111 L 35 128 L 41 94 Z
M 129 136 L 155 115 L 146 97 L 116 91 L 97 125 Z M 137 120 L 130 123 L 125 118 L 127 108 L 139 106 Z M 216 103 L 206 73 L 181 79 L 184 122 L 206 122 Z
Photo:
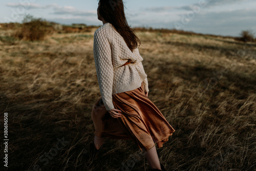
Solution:
M 8 113 L 7 170 L 147 170 L 132 140 L 106 139 L 97 162 L 100 97 L 87 32 L 12 37 L 0 28 L 0 111 Z M 168 170 L 256 170 L 256 44 L 221 36 L 136 31 L 150 98 L 175 133 L 157 148 Z M 1 151 L 3 151 L 3 139 Z M 3 156 L 2 156 L 3 157 Z M 2 159 L 3 160 L 3 159 Z M 1 163 L 1 170 L 4 167 Z

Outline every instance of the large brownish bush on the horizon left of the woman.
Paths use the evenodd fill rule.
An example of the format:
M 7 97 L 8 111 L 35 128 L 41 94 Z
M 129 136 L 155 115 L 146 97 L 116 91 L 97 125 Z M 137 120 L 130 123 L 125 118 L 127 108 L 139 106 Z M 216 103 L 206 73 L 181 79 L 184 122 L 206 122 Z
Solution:
M 47 21 L 41 18 L 34 18 L 32 15 L 26 15 L 23 19 L 23 25 L 14 34 L 14 37 L 25 40 L 44 40 L 47 33 L 51 32 L 47 27 Z

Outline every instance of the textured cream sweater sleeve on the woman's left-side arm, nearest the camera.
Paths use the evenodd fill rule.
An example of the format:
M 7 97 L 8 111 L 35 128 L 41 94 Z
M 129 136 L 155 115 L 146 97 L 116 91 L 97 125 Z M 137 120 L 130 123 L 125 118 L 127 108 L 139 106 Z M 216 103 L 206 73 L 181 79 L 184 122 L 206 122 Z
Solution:
M 100 94 L 106 110 L 109 111 L 114 108 L 112 101 L 114 68 L 111 46 L 104 32 L 94 33 L 93 52 Z

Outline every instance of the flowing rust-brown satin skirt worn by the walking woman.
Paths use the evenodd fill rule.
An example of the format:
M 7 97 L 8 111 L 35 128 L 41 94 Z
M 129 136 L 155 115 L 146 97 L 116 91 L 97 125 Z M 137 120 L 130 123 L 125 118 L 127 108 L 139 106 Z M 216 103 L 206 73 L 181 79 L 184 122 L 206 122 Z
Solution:
M 94 103 L 91 114 L 97 137 L 132 139 L 141 151 L 148 151 L 155 143 L 162 147 L 175 132 L 145 95 L 142 83 L 138 89 L 112 95 L 112 99 L 115 109 L 122 111 L 122 116 L 113 118 L 100 97 Z

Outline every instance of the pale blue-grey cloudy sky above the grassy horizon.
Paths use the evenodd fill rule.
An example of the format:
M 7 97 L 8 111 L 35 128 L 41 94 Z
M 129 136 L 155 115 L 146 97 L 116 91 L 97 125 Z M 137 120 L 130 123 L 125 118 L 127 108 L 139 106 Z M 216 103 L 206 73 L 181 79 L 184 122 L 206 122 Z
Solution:
M 110 0 L 111 1 L 111 0 Z M 255 0 L 123 0 L 131 27 L 178 29 L 203 34 L 240 36 L 256 33 Z M 26 14 L 50 22 L 101 26 L 98 0 L 6 0 L 0 3 L 0 23 L 18 22 Z M 256 34 L 255 34 L 256 35 Z

